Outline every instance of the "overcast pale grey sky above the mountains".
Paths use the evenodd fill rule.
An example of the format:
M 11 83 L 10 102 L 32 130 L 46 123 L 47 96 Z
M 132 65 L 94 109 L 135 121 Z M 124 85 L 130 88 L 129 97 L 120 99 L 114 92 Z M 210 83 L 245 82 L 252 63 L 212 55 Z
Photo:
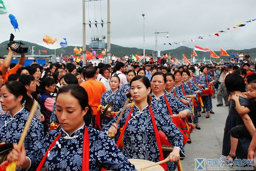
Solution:
M 16 40 L 25 40 L 48 48 L 59 48 L 63 37 L 68 45 L 82 46 L 82 1 L 81 0 L 3 0 L 8 10 L 0 15 L 0 42 L 8 40 L 14 33 Z M 187 41 L 183 45 L 193 48 L 198 45 L 213 50 L 255 48 L 256 21 L 245 27 L 226 30 L 237 24 L 255 19 L 255 0 L 110 0 L 111 43 L 124 47 L 143 48 L 143 17 L 145 13 L 146 49 L 155 49 L 155 30 L 169 32 L 158 34 L 158 49 L 177 48 L 173 42 Z M 16 16 L 19 29 L 15 33 L 8 18 Z M 86 23 L 90 18 L 107 21 L 107 0 L 86 2 Z M 211 35 L 218 31 L 219 37 Z M 107 25 L 98 29 L 86 26 L 86 44 L 91 36 L 107 35 Z M 47 45 L 42 41 L 45 35 L 58 41 Z M 195 39 L 196 42 L 189 41 Z M 163 45 L 166 43 L 166 46 Z M 172 46 L 168 45 L 172 43 Z

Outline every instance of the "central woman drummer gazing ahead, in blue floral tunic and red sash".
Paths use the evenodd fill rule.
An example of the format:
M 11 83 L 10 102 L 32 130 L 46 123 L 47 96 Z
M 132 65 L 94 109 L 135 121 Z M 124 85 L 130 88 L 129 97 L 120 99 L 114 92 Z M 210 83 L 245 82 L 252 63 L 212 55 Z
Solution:
M 127 108 L 122 115 L 118 126 L 116 123 L 108 123 L 103 128 L 108 134 L 115 135 L 122 129 L 117 146 L 123 136 L 124 155 L 127 158 L 144 159 L 152 162 L 163 160 L 163 153 L 158 130 L 165 133 L 168 141 L 173 144 L 173 151 L 169 154 L 170 162 L 175 162 L 169 170 L 175 170 L 177 160 L 180 158 L 180 151 L 184 154 L 183 136 L 173 124 L 169 116 L 159 108 L 150 107 L 150 81 L 147 77 L 136 76 L 131 82 L 131 95 L 135 102 L 133 108 Z M 180 118 L 187 117 L 189 112 L 180 112 Z M 118 116 L 114 118 L 117 120 Z M 161 165 L 167 170 L 167 164 Z

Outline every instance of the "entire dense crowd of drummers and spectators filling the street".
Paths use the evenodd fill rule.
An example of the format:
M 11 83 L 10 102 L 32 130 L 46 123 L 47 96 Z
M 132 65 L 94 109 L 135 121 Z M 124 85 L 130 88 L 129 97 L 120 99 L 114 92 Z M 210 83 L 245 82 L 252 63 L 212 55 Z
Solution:
M 201 130 L 200 117 L 214 114 L 215 96 L 217 107 L 229 107 L 222 162 L 255 156 L 256 75 L 249 63 L 180 65 L 170 55 L 159 61 L 150 55 L 141 63 L 131 55 L 124 61 L 113 55 L 112 63 L 97 66 L 50 61 L 24 67 L 25 54 L 10 64 L 13 54 L 9 48 L 7 57 L 0 57 L 0 143 L 14 144 L 7 160 L 22 170 L 132 171 L 128 159 L 169 158 L 161 166 L 174 171 L 194 129 Z M 35 101 L 35 117 L 20 149 Z M 113 111 L 105 115 L 110 102 Z M 163 137 L 171 152 L 162 149 Z

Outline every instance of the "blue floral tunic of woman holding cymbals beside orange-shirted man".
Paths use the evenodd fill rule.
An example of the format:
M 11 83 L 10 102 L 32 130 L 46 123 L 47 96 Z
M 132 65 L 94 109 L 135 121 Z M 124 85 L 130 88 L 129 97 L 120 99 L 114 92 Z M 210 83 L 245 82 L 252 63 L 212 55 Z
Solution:
M 123 86 L 122 86 L 123 87 Z M 124 92 L 117 89 L 116 91 L 112 92 L 112 90 L 103 92 L 101 96 L 101 105 L 106 106 L 110 101 L 113 100 L 113 112 L 121 111 L 124 103 L 126 101 L 127 97 L 124 94 Z M 105 120 L 102 120 L 102 125 L 108 124 L 113 118 L 106 118 Z

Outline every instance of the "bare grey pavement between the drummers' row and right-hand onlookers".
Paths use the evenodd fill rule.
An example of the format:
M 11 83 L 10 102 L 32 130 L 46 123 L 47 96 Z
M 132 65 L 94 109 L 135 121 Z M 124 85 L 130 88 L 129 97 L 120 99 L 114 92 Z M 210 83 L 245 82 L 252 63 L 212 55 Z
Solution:
M 184 160 L 181 160 L 183 171 L 192 171 L 195 168 L 195 158 L 216 159 L 221 156 L 223 133 L 228 107 L 217 107 L 217 97 L 212 99 L 213 111 L 210 118 L 206 113 L 199 118 L 201 130 L 195 129 L 191 135 L 191 144 L 186 144 Z M 195 125 L 194 125 L 195 126 Z

